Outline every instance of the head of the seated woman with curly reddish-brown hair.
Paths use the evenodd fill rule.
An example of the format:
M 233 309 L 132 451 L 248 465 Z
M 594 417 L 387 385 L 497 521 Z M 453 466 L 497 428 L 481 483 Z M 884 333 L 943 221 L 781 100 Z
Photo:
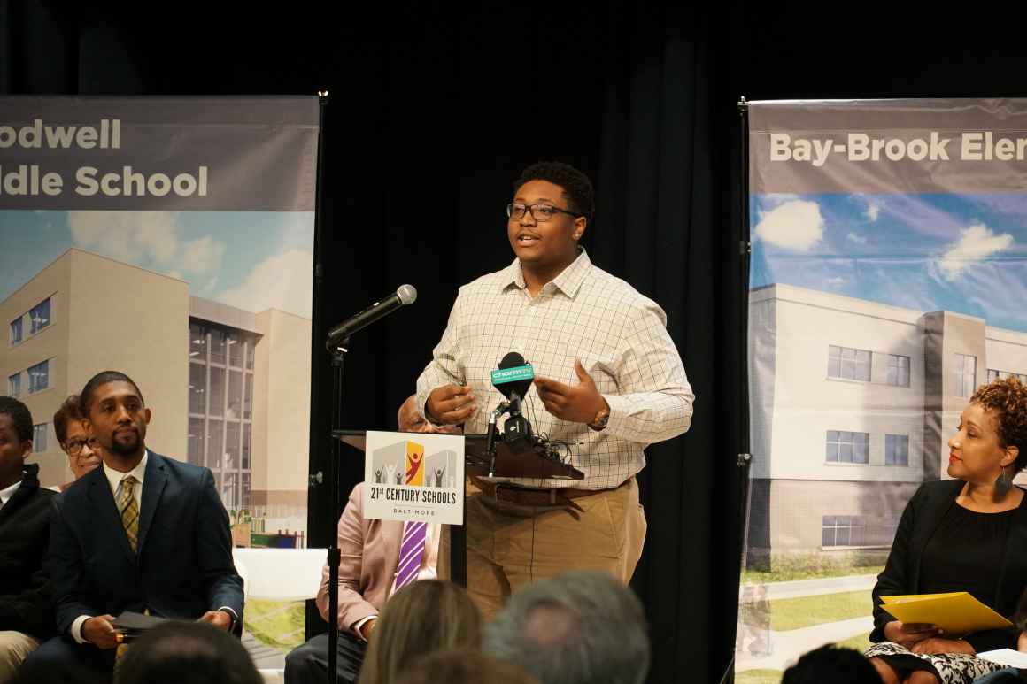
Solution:
M 1027 386 L 1010 377 L 979 387 L 959 416 L 949 450 L 949 476 L 993 486 L 993 498 L 1004 498 L 1027 465 Z

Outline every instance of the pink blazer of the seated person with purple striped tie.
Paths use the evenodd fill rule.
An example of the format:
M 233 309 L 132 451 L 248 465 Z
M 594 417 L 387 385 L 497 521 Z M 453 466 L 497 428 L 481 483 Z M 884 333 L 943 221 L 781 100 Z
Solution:
M 355 635 L 354 623 L 381 612 L 392 586 L 402 537 L 402 522 L 364 518 L 364 483 L 357 484 L 339 518 L 339 630 Z M 328 575 L 325 564 L 316 603 L 326 621 Z

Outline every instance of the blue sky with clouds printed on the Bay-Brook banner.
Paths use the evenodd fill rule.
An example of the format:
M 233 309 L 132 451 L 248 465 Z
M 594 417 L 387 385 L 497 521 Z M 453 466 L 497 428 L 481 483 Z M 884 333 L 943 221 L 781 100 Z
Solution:
M 754 194 L 750 286 L 781 282 L 1027 332 L 1027 195 Z

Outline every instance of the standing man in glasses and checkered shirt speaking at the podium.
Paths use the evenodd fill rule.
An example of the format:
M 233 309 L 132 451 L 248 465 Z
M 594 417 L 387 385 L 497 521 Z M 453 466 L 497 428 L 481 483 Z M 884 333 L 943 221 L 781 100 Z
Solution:
M 506 207 L 517 259 L 460 289 L 417 381 L 428 420 L 483 433 L 503 398 L 491 371 L 507 352 L 522 354 L 536 376 L 525 416 L 536 434 L 569 445 L 585 476 L 472 479 L 467 590 L 487 614 L 563 570 L 606 570 L 627 583 L 646 530 L 635 481 L 642 450 L 691 422 L 694 394 L 663 310 L 578 246 L 594 207 L 592 183 L 573 166 L 526 168 Z

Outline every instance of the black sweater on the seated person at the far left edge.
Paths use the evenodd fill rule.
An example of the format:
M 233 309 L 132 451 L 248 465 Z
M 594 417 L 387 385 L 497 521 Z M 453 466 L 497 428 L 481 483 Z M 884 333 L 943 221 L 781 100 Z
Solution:
M 43 572 L 56 492 L 39 487 L 38 472 L 38 465 L 27 464 L 22 486 L 0 508 L 0 630 L 45 639 L 56 631 L 50 581 Z

